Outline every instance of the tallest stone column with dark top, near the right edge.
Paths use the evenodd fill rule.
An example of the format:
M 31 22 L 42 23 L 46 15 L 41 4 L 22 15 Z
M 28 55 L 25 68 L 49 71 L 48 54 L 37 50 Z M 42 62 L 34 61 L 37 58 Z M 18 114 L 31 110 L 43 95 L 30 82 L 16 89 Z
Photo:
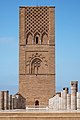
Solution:
M 78 81 L 71 81 L 71 109 L 77 109 Z

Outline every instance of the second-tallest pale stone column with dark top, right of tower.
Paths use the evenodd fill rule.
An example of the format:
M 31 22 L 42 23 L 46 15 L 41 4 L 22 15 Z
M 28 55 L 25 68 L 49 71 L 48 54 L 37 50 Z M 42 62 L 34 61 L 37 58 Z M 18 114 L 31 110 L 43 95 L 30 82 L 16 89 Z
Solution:
M 63 92 L 61 93 L 61 98 L 63 99 L 62 109 L 64 110 L 67 109 L 67 94 L 68 94 L 68 88 L 65 87 L 63 88 Z

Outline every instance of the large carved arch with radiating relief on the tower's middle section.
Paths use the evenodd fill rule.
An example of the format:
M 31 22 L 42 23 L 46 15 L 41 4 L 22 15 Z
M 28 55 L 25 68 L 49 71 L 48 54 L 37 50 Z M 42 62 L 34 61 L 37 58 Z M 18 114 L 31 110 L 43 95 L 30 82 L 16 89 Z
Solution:
M 28 73 L 40 74 L 40 67 L 42 67 L 43 64 L 46 67 L 48 67 L 47 60 L 42 54 L 38 53 L 32 54 L 32 56 L 29 57 L 28 60 L 26 61 L 26 67 L 29 68 Z

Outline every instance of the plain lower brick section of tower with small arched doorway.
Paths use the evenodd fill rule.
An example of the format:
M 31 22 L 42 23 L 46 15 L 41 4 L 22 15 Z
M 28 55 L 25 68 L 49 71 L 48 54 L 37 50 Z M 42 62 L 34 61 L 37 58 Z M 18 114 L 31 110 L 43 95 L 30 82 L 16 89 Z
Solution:
M 49 99 L 55 95 L 54 78 L 55 75 L 20 75 L 19 93 L 25 99 L 26 107 L 48 106 Z

